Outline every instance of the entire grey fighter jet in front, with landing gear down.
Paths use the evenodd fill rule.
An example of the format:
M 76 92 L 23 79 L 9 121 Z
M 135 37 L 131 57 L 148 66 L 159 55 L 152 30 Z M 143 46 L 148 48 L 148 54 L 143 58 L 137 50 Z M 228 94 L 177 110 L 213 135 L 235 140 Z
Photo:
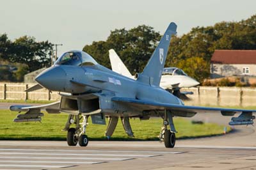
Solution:
M 184 105 L 184 102 L 159 86 L 172 35 L 177 25 L 170 23 L 158 46 L 154 50 L 143 72 L 130 79 L 99 65 L 89 54 L 79 50 L 65 52 L 51 68 L 36 77 L 36 81 L 51 91 L 60 91 L 61 100 L 47 105 L 13 105 L 11 111 L 18 114 L 15 122 L 39 121 L 49 113 L 69 114 L 65 130 L 69 146 L 87 146 L 86 127 L 88 118 L 92 123 L 106 124 L 108 133 L 115 130 L 118 118 L 122 118 L 125 129 L 131 131 L 129 118 L 147 120 L 151 116 L 161 116 L 163 127 L 159 139 L 166 148 L 175 146 L 175 125 L 173 116 L 192 117 L 196 113 L 211 112 L 223 116 L 234 116 L 230 125 L 251 125 L 256 110 L 225 109 Z M 70 125 L 74 123 L 75 128 Z M 170 127 L 170 128 L 168 128 Z M 150 128 L 150 125 L 148 126 Z

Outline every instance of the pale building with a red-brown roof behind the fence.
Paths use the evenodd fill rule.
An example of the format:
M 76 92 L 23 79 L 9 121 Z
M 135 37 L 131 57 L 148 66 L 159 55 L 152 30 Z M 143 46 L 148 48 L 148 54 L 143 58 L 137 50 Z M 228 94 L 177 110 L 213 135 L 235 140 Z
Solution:
M 211 77 L 256 76 L 256 50 L 215 50 Z

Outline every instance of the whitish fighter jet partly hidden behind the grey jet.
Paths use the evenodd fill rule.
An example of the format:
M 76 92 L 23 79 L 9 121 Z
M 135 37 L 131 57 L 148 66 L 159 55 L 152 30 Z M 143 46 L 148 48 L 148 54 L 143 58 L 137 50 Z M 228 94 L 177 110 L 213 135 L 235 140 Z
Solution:
M 127 67 L 124 65 L 123 61 L 119 58 L 113 49 L 109 50 L 109 60 L 111 63 L 111 68 L 114 72 L 134 79 L 134 76 L 132 76 Z M 180 92 L 181 88 L 191 88 L 198 86 L 199 84 L 200 83 L 198 81 L 189 77 L 185 72 L 183 72 L 183 70 L 176 67 L 164 68 L 160 81 L 161 88 L 170 91 L 170 93 L 173 93 L 173 95 L 182 99 L 187 99 L 188 97 L 186 97 L 186 95 L 192 95 L 193 92 Z

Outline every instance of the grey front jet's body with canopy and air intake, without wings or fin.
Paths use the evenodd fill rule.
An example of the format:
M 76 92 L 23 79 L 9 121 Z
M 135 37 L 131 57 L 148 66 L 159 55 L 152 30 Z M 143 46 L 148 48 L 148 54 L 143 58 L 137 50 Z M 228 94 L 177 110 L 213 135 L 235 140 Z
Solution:
M 68 59 L 68 55 L 72 56 L 72 60 Z M 82 56 L 81 62 L 77 60 L 79 56 Z M 92 112 L 100 109 L 100 112 L 119 116 L 124 113 L 129 116 L 142 114 L 143 110 L 140 107 L 112 102 L 113 97 L 184 104 L 182 100 L 159 86 L 130 79 L 99 65 L 85 52 L 72 51 L 63 54 L 54 66 L 40 73 L 36 81 L 51 91 L 70 94 L 62 96 L 61 111 Z M 90 94 L 97 96 L 97 100 L 88 98 Z M 99 106 L 95 105 L 96 101 Z

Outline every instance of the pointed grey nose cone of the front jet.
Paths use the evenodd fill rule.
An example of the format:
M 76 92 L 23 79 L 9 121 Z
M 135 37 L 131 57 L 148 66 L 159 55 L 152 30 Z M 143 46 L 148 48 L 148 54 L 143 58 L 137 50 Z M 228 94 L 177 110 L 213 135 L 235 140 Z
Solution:
M 35 81 L 52 91 L 65 91 L 67 73 L 60 66 L 53 66 L 36 76 Z

